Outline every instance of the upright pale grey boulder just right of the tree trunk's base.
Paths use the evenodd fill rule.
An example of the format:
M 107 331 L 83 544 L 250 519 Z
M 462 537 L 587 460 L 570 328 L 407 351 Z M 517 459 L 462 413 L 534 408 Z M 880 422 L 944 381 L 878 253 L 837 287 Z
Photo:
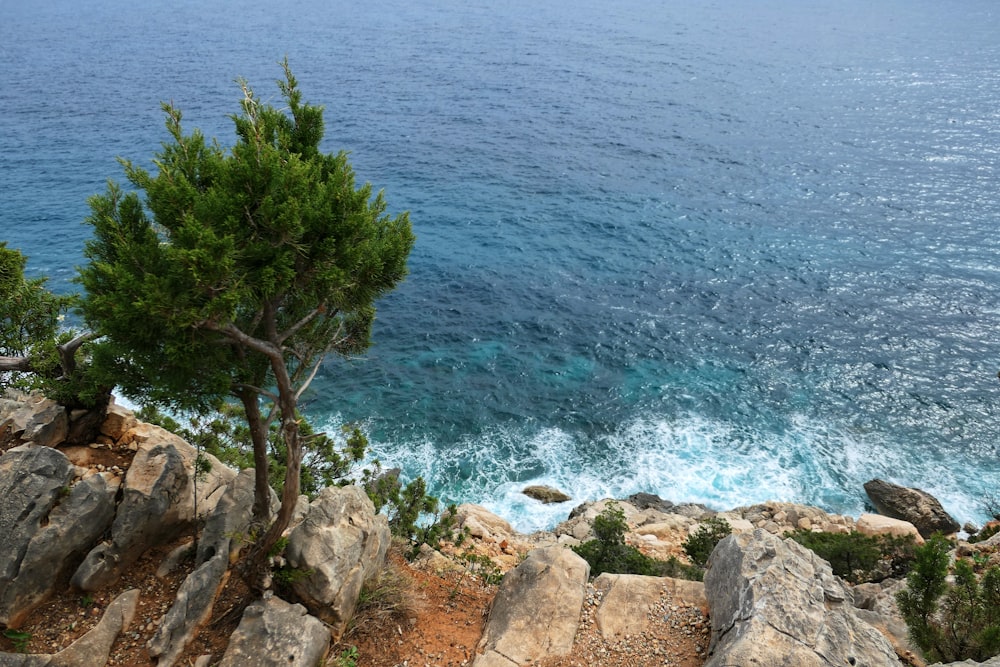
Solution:
M 361 585 L 377 574 L 389 547 L 389 524 L 357 486 L 323 489 L 288 536 L 288 566 L 299 600 L 339 639 L 354 614 Z

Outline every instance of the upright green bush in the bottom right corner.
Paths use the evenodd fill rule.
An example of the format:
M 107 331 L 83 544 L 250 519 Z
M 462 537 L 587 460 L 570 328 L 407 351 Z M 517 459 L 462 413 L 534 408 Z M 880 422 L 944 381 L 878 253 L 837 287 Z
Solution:
M 1000 568 L 990 568 L 979 579 L 972 563 L 958 559 L 949 583 L 950 546 L 935 535 L 917 547 L 896 601 L 911 638 L 929 661 L 983 661 L 1000 653 Z

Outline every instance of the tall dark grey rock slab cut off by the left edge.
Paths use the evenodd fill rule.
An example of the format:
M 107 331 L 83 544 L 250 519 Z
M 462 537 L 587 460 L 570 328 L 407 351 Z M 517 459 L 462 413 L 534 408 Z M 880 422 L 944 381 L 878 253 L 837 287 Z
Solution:
M 69 491 L 72 479 L 69 459 L 51 447 L 21 445 L 0 456 L 0 535 L 4 542 L 0 599 L 6 598 L 32 539 Z M 0 623 L 8 624 L 12 611 L 0 610 Z

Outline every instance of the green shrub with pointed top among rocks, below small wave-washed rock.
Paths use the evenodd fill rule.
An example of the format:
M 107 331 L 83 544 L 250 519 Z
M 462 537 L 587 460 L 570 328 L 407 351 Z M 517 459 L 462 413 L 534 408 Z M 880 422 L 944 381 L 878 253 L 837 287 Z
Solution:
M 594 518 L 595 539 L 573 547 L 573 551 L 590 564 L 590 575 L 603 572 L 612 574 L 645 574 L 700 579 L 700 569 L 683 566 L 676 559 L 661 561 L 643 554 L 625 543 L 625 512 L 618 503 L 611 501 Z

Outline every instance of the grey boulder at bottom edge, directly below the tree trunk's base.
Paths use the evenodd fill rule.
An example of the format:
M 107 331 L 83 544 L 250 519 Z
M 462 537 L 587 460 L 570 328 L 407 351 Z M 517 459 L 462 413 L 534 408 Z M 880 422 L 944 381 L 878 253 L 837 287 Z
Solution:
M 243 612 L 219 667 L 315 667 L 329 648 L 329 631 L 305 607 L 270 597 Z

